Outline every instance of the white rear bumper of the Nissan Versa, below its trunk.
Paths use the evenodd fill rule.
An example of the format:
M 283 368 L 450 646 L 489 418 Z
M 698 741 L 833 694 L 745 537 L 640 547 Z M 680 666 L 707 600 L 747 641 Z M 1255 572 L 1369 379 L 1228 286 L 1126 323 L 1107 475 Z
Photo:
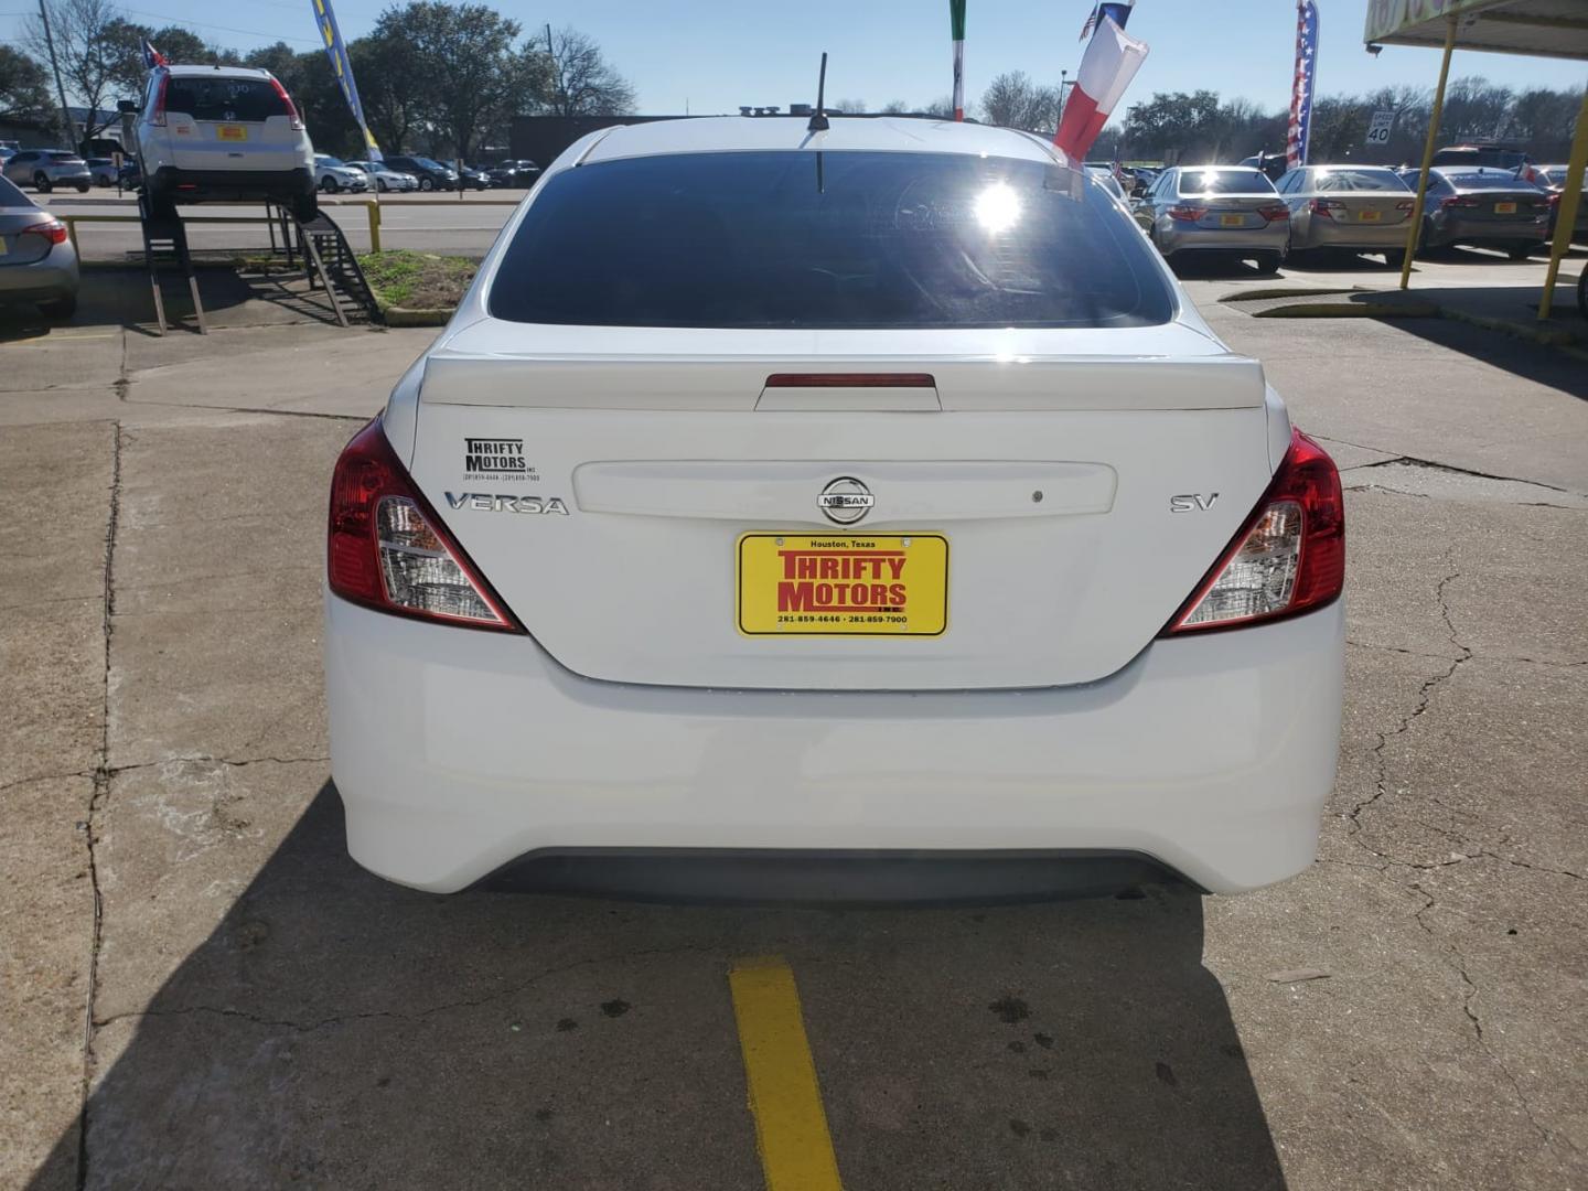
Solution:
M 1312 862 L 1342 657 L 1337 602 L 1153 642 L 1080 688 L 705 691 L 326 602 L 348 848 L 438 892 L 526 856 L 680 848 L 1129 853 L 1250 889 Z

